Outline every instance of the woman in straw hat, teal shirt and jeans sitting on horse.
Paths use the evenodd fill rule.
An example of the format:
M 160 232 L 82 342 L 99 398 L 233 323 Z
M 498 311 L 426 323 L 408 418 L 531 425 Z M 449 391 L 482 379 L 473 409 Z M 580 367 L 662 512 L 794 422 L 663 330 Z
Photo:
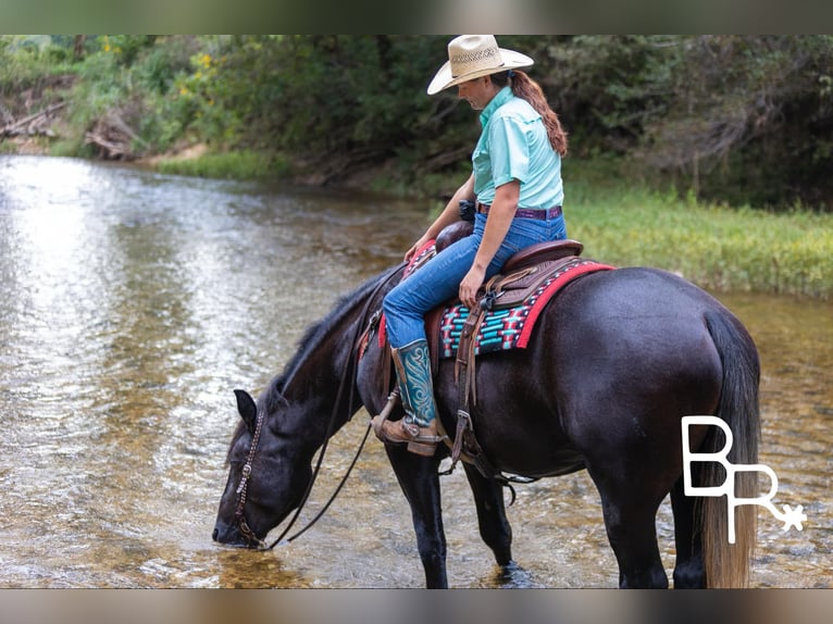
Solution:
M 459 220 L 463 200 L 476 200 L 474 233 L 402 280 L 383 304 L 406 416 L 399 421 L 376 416 L 374 429 L 386 444 L 407 444 L 416 454 L 433 455 L 442 440 L 424 314 L 455 295 L 472 309 L 477 289 L 510 255 L 536 242 L 567 237 L 561 212 L 567 134 L 538 84 L 519 70 L 533 62 L 498 48 L 492 35 L 462 35 L 449 42 L 448 61 L 427 89 L 434 95 L 456 85 L 458 97 L 483 111 L 483 132 L 472 153 L 472 175 L 405 260 Z

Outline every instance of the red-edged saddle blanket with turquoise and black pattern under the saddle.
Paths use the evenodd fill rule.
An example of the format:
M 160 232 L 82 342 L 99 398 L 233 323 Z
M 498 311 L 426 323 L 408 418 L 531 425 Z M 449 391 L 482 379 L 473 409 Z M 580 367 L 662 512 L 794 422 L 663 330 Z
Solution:
M 426 262 L 434 254 L 433 246 L 423 248 L 406 270 L 406 277 Z M 523 349 L 530 344 L 535 322 L 547 303 L 564 286 L 588 273 L 609 271 L 613 269 L 595 260 L 572 258 L 569 262 L 559 263 L 551 274 L 518 305 L 500 310 L 487 311 L 474 339 L 475 355 L 507 349 Z M 439 336 L 437 339 L 436 315 L 439 314 Z M 426 317 L 428 342 L 437 345 L 436 354 L 440 358 L 453 358 L 460 345 L 460 334 L 469 317 L 469 309 L 461 302 L 450 302 Z M 434 319 L 434 322 L 431 320 Z M 384 347 L 385 319 L 382 317 L 378 332 L 380 347 Z

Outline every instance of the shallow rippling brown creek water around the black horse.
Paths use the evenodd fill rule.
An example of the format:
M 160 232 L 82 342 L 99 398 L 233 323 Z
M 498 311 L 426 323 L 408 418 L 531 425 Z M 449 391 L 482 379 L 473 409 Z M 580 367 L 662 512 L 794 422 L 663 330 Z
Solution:
M 357 192 L 0 157 L 0 587 L 421 587 L 410 511 L 372 436 L 347 486 L 271 552 L 211 540 L 236 412 L 339 295 L 399 261 L 428 207 Z M 604 260 L 604 259 L 602 259 Z M 833 584 L 833 305 L 720 295 L 761 353 L 751 584 Z M 336 487 L 366 413 L 333 439 L 301 522 Z M 502 576 L 462 471 L 444 477 L 455 587 L 616 587 L 585 473 L 519 486 Z M 660 550 L 673 567 L 666 501 Z

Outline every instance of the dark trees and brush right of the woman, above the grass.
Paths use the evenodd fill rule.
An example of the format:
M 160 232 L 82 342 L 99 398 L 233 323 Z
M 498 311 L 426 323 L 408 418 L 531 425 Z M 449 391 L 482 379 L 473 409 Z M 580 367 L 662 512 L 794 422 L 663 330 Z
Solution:
M 580 153 L 716 201 L 833 205 L 833 37 L 575 37 L 551 55 Z

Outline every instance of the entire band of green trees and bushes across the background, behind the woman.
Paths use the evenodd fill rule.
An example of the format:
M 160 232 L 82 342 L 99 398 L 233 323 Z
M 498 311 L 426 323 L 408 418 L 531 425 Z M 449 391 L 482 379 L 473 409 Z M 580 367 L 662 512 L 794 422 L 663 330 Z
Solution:
M 0 104 L 77 74 L 71 143 L 107 115 L 137 155 L 195 142 L 291 153 L 322 183 L 385 169 L 433 192 L 464 170 L 477 115 L 425 86 L 445 36 L 0 36 Z M 626 155 L 630 179 L 733 205 L 833 208 L 833 37 L 501 36 L 577 157 Z M 8 116 L 8 115 L 7 115 Z M 389 166 L 394 163 L 394 166 Z

